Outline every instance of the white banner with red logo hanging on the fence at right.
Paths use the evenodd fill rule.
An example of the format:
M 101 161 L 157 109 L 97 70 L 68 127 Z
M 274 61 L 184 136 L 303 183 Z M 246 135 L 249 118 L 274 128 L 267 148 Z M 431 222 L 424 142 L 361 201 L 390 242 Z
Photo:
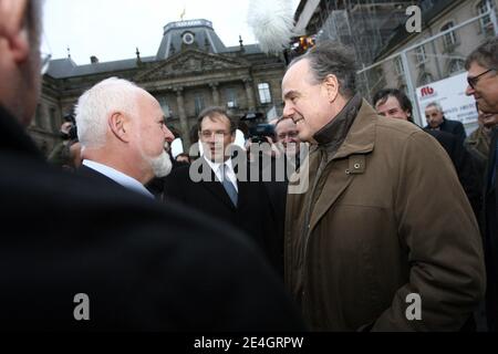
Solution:
M 425 107 L 437 102 L 443 107 L 445 117 L 459 121 L 464 125 L 475 125 L 477 122 L 476 103 L 473 96 L 466 96 L 467 73 L 461 73 L 417 88 L 417 101 L 422 121 L 425 123 Z

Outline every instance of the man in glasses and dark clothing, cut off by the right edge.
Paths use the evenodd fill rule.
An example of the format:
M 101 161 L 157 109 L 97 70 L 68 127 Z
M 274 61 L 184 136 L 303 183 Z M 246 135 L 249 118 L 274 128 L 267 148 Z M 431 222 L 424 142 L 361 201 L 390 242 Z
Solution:
M 474 96 L 479 110 L 489 116 L 491 129 L 489 159 L 484 180 L 481 232 L 485 241 L 487 294 L 486 315 L 490 331 L 498 332 L 498 38 L 474 50 L 465 63 L 468 70 L 466 94 Z

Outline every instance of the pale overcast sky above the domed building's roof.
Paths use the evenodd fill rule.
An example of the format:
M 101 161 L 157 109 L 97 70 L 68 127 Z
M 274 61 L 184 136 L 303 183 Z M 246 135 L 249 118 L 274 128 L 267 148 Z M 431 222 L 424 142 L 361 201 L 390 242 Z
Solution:
M 269 0 L 271 1 L 271 0 Z M 295 9 L 299 0 L 292 1 Z M 247 24 L 250 0 L 45 0 L 42 50 L 76 64 L 156 55 L 168 22 L 206 19 L 227 46 L 256 43 Z

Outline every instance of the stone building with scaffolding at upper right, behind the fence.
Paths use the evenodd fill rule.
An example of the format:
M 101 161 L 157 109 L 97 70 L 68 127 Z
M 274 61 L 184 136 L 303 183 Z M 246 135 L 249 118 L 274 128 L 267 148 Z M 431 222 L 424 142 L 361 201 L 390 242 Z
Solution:
M 411 6 L 421 10 L 421 32 L 407 31 Z M 359 90 L 367 100 L 397 87 L 415 102 L 417 87 L 465 72 L 466 56 L 496 35 L 488 13 L 497 6 L 498 0 L 301 0 L 294 31 L 315 42 L 332 39 L 353 46 Z

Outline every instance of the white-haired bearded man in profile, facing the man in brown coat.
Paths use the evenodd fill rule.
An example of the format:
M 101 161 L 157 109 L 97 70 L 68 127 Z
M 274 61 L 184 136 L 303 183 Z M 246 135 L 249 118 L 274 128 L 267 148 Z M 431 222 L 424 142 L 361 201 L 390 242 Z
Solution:
M 166 127 L 159 103 L 145 90 L 121 79 L 107 79 L 85 92 L 76 106 L 77 135 L 86 175 L 104 175 L 152 197 L 144 187 L 172 170 Z

